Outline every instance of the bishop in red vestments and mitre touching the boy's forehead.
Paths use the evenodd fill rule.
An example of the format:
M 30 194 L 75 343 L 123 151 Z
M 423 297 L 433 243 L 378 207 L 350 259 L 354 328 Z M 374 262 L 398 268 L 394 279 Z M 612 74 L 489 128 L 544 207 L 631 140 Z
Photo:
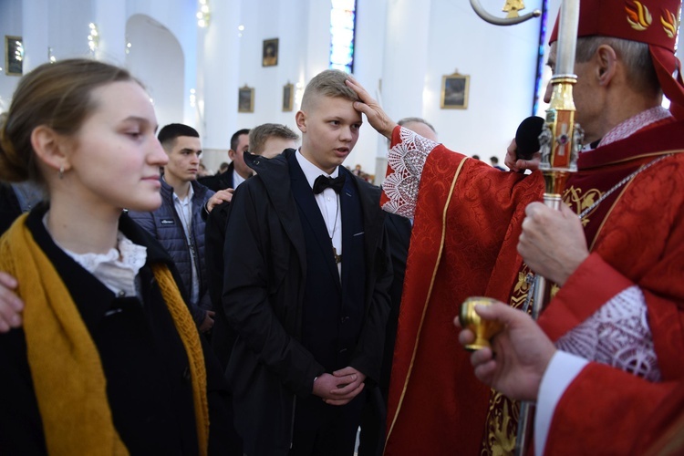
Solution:
M 534 272 L 557 284 L 539 323 L 558 347 L 651 381 L 684 378 L 684 88 L 667 33 L 680 3 L 641 2 L 654 20 L 640 31 L 633 3 L 581 3 L 586 148 L 560 212 L 540 203 L 541 172 L 501 172 L 397 127 L 350 79 L 357 109 L 391 139 L 383 208 L 415 217 L 385 454 L 513 451 L 518 404 L 474 378 L 452 320 L 471 295 L 523 306 Z M 652 67 L 623 60 L 625 43 Z M 661 88 L 679 117 L 660 107 Z M 536 250 L 531 233 L 546 236 Z

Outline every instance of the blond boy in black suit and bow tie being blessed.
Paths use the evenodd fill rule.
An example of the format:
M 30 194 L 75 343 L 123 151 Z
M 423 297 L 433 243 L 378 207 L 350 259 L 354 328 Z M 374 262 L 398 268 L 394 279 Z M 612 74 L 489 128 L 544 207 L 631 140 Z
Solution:
M 362 123 L 346 79 L 311 80 L 301 148 L 245 156 L 256 175 L 233 196 L 226 375 L 249 456 L 353 454 L 365 384 L 379 377 L 391 266 L 379 189 L 339 166 Z

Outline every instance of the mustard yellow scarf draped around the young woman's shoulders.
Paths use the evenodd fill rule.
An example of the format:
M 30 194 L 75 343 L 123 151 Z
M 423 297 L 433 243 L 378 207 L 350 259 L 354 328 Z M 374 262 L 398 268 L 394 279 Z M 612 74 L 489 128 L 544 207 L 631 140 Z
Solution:
M 114 428 L 98 349 L 66 286 L 25 222 L 26 214 L 0 238 L 0 271 L 16 277 L 17 293 L 25 303 L 28 363 L 47 451 L 54 455 L 128 454 Z M 169 269 L 154 264 L 152 270 L 190 362 L 203 456 L 209 440 L 209 406 L 199 334 Z

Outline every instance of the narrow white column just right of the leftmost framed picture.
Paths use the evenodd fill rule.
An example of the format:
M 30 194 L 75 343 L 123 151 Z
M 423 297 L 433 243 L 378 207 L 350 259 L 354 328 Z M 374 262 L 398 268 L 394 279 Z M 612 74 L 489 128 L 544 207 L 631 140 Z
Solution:
M 22 4 L 23 73 L 47 62 L 47 0 L 24 0 Z

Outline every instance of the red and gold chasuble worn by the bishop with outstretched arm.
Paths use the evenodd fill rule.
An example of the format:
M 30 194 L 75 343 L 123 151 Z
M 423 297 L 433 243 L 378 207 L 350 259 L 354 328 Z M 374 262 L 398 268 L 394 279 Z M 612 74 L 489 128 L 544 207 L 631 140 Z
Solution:
M 556 340 L 636 284 L 646 296 L 658 362 L 668 379 L 684 378 L 684 123 L 665 123 L 580 155 L 564 194 L 577 213 L 640 166 L 672 154 L 586 214 L 592 254 L 539 323 Z M 401 142 L 400 134 L 394 131 L 393 144 Z M 541 201 L 543 192 L 540 172 L 498 171 L 440 145 L 430 152 L 415 206 L 385 454 L 513 451 L 518 405 L 491 394 L 474 377 L 452 321 L 471 295 L 523 306 L 530 271 L 516 245 L 524 208 Z M 383 195 L 383 203 L 390 200 Z

